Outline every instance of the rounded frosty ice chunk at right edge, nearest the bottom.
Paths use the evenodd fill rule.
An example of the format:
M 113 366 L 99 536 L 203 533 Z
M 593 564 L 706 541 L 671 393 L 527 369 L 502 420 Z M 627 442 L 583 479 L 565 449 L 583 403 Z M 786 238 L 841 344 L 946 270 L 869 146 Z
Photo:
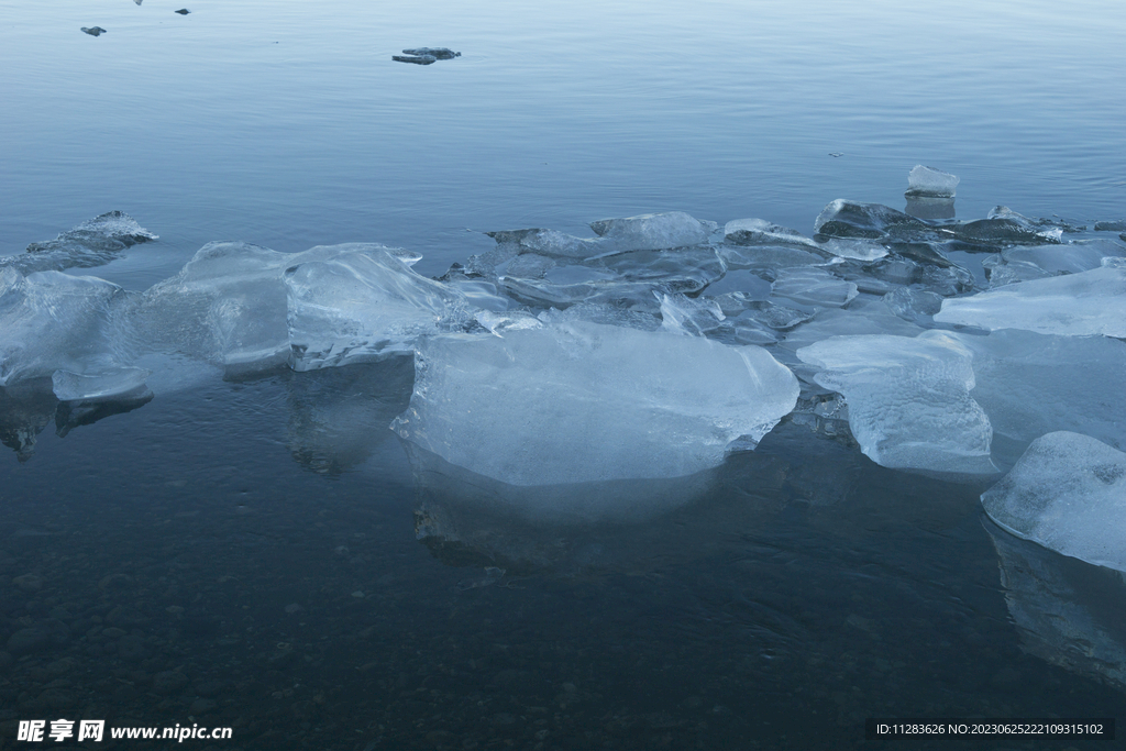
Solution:
M 982 504 L 1019 537 L 1126 571 L 1126 454 L 1101 441 L 1066 431 L 1042 436 Z

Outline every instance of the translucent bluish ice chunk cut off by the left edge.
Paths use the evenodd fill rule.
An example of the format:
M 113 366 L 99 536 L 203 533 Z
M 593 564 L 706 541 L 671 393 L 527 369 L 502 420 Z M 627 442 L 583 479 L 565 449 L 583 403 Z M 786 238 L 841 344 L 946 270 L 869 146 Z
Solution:
M 0 386 L 55 370 L 119 367 L 119 312 L 128 293 L 97 277 L 0 268 Z

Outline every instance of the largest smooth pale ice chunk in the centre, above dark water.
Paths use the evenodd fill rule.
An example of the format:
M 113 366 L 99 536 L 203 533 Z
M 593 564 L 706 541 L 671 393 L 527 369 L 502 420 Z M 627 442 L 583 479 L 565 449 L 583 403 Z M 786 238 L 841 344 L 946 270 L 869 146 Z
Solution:
M 572 322 L 423 339 L 404 439 L 511 485 L 691 475 L 797 401 L 759 347 Z

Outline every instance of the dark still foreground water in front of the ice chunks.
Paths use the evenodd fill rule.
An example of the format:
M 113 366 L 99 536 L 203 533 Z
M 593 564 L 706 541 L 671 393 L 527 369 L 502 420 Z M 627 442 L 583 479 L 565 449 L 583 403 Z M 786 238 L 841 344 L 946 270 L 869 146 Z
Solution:
M 0 732 L 53 714 L 195 717 L 245 749 L 859 748 L 875 715 L 1121 705 L 1084 677 L 1108 668 L 1070 672 L 1120 664 L 1120 587 L 1049 588 L 1101 631 L 1051 605 L 1072 626 L 1042 641 L 1091 660 L 1024 653 L 1009 608 L 1044 587 L 1000 585 L 980 488 L 786 420 L 687 490 L 592 484 L 566 517 L 551 489 L 409 459 L 379 428 L 409 374 L 216 379 L 8 455 Z

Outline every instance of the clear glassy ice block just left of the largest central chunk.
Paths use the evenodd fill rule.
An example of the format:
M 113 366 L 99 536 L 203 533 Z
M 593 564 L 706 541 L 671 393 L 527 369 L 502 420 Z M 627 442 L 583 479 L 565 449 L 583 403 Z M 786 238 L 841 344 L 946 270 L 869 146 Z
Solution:
M 304 262 L 283 279 L 295 370 L 406 354 L 420 336 L 473 321 L 464 295 L 419 276 L 386 250 Z

